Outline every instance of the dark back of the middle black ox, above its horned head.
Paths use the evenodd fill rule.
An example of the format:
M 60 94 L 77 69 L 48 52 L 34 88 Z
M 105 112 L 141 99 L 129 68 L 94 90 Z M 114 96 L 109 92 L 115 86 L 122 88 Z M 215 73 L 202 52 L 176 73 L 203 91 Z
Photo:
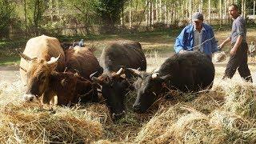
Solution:
M 146 58 L 139 42 L 118 41 L 110 43 L 102 50 L 100 65 L 104 72 L 118 71 L 120 66 L 146 70 Z

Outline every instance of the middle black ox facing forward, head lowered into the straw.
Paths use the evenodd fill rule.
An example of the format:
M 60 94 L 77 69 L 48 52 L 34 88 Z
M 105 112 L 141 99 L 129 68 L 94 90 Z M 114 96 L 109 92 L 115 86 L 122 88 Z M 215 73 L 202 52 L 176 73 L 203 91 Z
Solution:
M 120 66 L 146 70 L 142 46 L 139 42 L 131 41 L 111 43 L 102 51 L 100 64 L 104 73 L 98 78 L 91 78 L 102 86 L 102 96 L 106 98 L 107 105 L 112 106 L 110 112 L 113 118 L 121 118 L 126 110 L 125 96 L 132 85 L 127 79 L 129 76 L 125 74 L 125 69 Z

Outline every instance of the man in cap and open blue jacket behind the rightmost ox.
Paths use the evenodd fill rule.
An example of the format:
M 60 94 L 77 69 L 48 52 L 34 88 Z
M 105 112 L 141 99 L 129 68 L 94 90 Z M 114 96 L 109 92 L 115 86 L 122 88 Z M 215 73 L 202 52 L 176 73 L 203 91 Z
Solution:
M 203 23 L 203 15 L 194 13 L 193 23 L 186 26 L 176 38 L 174 50 L 176 53 L 201 50 L 211 60 L 212 54 L 218 51 L 217 42 L 214 38 L 214 31 L 211 26 Z

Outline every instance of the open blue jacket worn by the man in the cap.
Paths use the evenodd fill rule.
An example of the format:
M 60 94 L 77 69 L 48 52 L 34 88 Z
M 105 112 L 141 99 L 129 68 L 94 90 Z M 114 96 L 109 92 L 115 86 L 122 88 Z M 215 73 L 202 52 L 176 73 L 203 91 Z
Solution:
M 202 42 L 205 42 L 207 39 L 212 38 L 211 40 L 205 42 L 202 44 L 202 51 L 209 55 L 211 55 L 218 51 L 218 46 L 216 39 L 214 37 L 214 31 L 213 29 L 207 25 L 206 23 L 202 23 L 202 26 L 205 28 L 205 30 L 202 30 Z M 194 26 L 193 24 L 190 24 L 189 26 L 186 26 L 181 34 L 178 35 L 176 38 L 176 42 L 174 44 L 174 50 L 176 53 L 179 52 L 179 50 L 188 50 L 192 51 L 191 49 L 194 46 Z

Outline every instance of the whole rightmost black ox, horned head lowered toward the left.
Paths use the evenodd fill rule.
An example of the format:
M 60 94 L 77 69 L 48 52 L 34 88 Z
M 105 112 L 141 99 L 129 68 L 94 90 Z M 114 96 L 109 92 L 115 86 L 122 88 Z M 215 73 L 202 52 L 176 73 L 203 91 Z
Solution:
M 133 108 L 140 113 L 145 112 L 168 89 L 182 92 L 210 89 L 215 73 L 213 63 L 200 51 L 174 54 L 154 74 L 138 74 L 129 70 L 138 76 L 134 84 L 137 98 Z

